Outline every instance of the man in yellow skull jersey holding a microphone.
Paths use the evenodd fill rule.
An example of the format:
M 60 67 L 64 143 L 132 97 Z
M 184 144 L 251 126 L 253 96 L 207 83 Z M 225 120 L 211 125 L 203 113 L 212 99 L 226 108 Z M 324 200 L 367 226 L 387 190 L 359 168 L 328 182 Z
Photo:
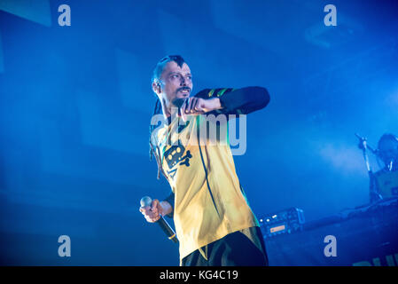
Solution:
M 179 55 L 159 61 L 152 90 L 158 97 L 154 114 L 161 111 L 167 123 L 156 131 L 154 125 L 150 128 L 151 156 L 158 162 L 158 178 L 161 172 L 172 193 L 140 211 L 148 222 L 160 215 L 174 217 L 180 265 L 268 265 L 259 223 L 239 183 L 228 139 L 214 145 L 206 136 L 206 141 L 200 140 L 203 133 L 199 134 L 204 123 L 212 123 L 202 114 L 249 114 L 268 105 L 268 91 L 213 89 L 190 96 L 191 70 Z M 216 124 L 219 130 L 222 122 Z M 217 139 L 221 137 L 217 133 Z

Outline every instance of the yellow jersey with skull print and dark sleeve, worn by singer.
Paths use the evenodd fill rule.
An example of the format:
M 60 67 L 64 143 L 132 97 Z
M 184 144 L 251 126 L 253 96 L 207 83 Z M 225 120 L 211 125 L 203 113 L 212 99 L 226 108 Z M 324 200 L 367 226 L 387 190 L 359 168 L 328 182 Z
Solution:
M 231 89 L 201 93 L 205 98 L 220 97 L 224 111 L 230 114 L 247 114 L 269 102 L 265 89 L 249 88 L 236 91 L 235 98 L 221 99 Z M 260 241 L 250 230 L 259 222 L 238 180 L 228 139 L 229 122 L 213 125 L 215 137 L 208 135 L 212 123 L 206 114 L 187 115 L 187 122 L 175 115 L 152 135 L 162 172 L 173 192 L 168 201 L 174 208 L 180 264 L 191 252 L 199 249 L 203 255 L 202 247 L 237 231 L 245 233 L 261 249 Z

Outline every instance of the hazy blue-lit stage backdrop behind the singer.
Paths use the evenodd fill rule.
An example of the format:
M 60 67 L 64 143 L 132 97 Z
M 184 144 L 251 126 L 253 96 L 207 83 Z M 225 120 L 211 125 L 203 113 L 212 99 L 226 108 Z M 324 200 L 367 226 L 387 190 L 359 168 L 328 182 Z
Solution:
M 58 7 L 69 4 L 71 26 Z M 324 26 L 324 6 L 337 27 Z M 156 62 L 181 54 L 194 92 L 260 85 L 236 156 L 252 209 L 308 221 L 368 202 L 355 132 L 398 134 L 395 1 L 0 2 L 1 264 L 178 265 L 138 212 L 164 198 L 148 158 Z M 374 170 L 378 162 L 371 156 Z M 59 235 L 72 256 L 58 256 Z

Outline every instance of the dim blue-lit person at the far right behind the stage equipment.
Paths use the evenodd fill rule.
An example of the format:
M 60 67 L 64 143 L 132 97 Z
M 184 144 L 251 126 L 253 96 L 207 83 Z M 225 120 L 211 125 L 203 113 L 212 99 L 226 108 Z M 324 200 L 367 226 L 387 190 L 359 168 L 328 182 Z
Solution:
M 398 138 L 384 134 L 378 140 L 377 152 L 384 168 L 374 174 L 376 191 L 383 199 L 398 197 Z

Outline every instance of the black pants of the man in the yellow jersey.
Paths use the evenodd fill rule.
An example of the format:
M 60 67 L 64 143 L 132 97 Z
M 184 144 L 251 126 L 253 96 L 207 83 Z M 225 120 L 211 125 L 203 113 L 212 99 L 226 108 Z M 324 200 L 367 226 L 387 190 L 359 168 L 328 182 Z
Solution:
M 183 266 L 268 266 L 268 257 L 259 227 L 255 227 L 264 253 L 244 233 L 230 233 L 207 245 L 207 260 L 199 249 L 183 257 Z M 206 248 L 203 248 L 205 251 Z

